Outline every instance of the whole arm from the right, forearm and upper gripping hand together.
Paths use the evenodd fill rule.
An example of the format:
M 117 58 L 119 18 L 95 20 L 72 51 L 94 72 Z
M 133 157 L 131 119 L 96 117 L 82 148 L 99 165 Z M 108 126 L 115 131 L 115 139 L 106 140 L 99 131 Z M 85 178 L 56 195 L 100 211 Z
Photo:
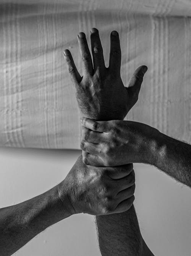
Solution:
M 82 119 L 84 162 L 94 166 L 151 164 L 191 187 L 191 145 L 132 121 Z

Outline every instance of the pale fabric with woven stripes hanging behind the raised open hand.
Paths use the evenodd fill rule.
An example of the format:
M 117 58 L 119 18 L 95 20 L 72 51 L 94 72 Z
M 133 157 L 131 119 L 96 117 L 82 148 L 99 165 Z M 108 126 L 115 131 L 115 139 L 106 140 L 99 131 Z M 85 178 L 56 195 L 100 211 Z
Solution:
M 120 35 L 121 78 L 148 71 L 126 120 L 191 142 L 189 0 L 0 0 L 0 146 L 79 149 L 80 113 L 62 52 L 81 73 L 77 34 L 99 30 L 108 66 Z

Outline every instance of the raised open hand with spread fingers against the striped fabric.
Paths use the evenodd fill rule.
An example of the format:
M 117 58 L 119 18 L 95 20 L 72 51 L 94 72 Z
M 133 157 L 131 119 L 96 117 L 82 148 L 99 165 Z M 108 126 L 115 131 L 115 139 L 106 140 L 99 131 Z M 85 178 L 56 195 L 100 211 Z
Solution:
M 134 72 L 128 87 L 123 85 L 120 76 L 121 48 L 117 31 L 110 35 L 109 66 L 105 67 L 103 49 L 99 31 L 91 29 L 91 54 L 86 35 L 79 33 L 78 43 L 82 57 L 83 76 L 76 69 L 69 50 L 65 50 L 65 61 L 76 92 L 76 99 L 83 117 L 95 120 L 124 119 L 128 111 L 138 101 L 146 66 L 140 66 Z M 126 49 L 125 49 L 126 50 Z M 93 66 L 94 65 L 94 66 Z M 143 72 L 142 68 L 146 70 Z

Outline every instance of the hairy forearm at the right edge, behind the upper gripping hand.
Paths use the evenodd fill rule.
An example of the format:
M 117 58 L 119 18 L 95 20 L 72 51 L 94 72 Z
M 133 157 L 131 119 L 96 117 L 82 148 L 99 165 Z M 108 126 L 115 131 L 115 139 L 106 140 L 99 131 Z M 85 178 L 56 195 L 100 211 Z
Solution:
M 191 145 L 159 133 L 152 142 L 151 164 L 191 187 Z

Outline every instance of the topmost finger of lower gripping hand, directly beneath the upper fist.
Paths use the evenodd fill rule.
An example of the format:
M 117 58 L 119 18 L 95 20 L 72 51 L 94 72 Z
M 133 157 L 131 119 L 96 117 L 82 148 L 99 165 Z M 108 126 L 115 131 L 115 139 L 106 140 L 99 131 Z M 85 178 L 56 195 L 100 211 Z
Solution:
M 120 179 L 127 177 L 129 175 L 129 178 L 134 178 L 134 170 L 133 170 L 133 164 L 126 164 L 126 165 L 119 165 L 115 167 L 107 167 L 107 175 L 114 179 L 118 180 L 120 182 Z

